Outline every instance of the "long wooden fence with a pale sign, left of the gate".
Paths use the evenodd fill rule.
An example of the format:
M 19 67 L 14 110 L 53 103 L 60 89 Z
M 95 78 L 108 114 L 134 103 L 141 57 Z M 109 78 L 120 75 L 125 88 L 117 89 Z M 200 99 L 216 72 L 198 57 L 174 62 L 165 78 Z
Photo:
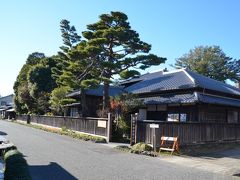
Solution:
M 26 123 L 37 123 L 58 128 L 65 127 L 74 131 L 104 136 L 108 141 L 111 138 L 110 114 L 108 118 L 18 115 L 17 119 L 26 121 Z

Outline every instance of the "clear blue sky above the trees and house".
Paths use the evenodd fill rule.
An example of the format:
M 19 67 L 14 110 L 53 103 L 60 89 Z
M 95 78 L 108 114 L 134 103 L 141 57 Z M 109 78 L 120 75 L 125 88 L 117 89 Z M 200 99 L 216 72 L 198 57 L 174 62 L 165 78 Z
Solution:
M 199 45 L 219 45 L 240 58 L 240 1 L 238 0 L 9 0 L 0 6 L 0 94 L 13 93 L 16 77 L 32 52 L 47 56 L 62 45 L 59 22 L 68 19 L 78 32 L 102 13 L 122 11 L 152 52 L 176 58 Z

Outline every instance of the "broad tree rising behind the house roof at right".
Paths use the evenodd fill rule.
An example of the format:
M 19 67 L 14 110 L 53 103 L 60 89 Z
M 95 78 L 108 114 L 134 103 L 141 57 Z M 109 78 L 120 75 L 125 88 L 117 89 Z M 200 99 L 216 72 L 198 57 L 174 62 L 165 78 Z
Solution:
M 199 46 L 178 58 L 176 68 L 187 68 L 204 76 L 225 81 L 239 77 L 237 61 L 228 57 L 219 46 Z

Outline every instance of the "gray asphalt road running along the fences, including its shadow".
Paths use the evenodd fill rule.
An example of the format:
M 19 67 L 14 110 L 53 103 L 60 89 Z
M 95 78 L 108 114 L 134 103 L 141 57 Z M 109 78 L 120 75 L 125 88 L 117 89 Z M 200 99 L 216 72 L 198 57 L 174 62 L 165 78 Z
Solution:
M 233 179 L 7 121 L 0 121 L 0 134 L 25 155 L 36 180 Z

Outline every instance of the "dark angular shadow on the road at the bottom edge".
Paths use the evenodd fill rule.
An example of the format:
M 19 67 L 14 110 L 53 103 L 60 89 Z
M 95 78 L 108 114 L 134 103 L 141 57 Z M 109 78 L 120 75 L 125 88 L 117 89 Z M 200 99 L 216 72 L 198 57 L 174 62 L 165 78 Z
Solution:
M 72 174 L 55 162 L 48 165 L 29 166 L 29 171 L 33 180 L 77 180 Z

